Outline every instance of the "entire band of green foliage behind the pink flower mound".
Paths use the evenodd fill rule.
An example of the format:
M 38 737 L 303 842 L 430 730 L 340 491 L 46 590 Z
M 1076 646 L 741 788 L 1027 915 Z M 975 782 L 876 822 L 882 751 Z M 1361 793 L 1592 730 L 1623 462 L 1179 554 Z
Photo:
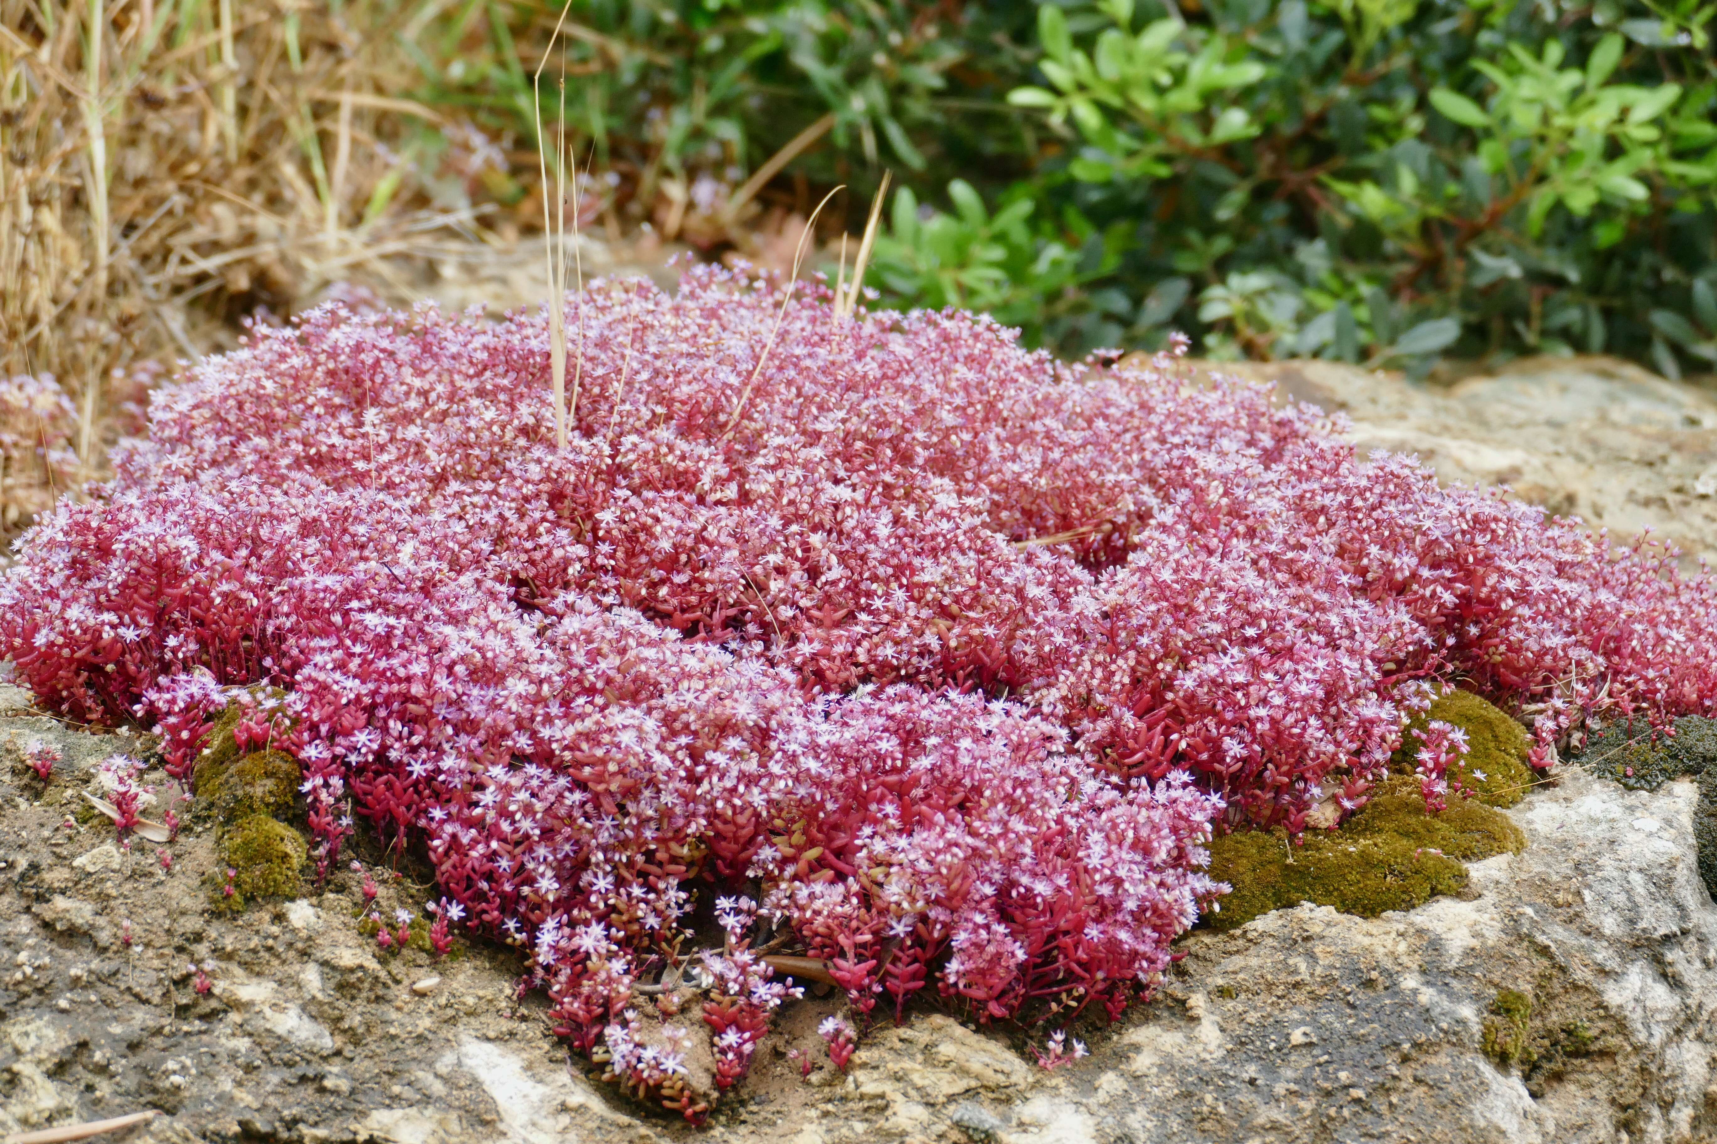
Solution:
M 1425 372 L 1717 362 L 1705 0 L 573 0 L 567 129 L 623 173 L 900 187 L 867 283 L 1080 353 Z M 417 29 L 424 98 L 519 135 L 558 5 Z M 534 43 L 536 48 L 527 48 Z M 560 96 L 544 94 L 546 105 Z

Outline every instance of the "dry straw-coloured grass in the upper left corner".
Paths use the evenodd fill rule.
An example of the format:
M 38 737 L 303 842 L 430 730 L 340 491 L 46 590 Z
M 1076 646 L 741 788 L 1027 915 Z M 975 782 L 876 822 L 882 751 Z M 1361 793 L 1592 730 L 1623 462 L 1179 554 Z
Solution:
M 398 33 L 440 7 L 0 0 L 0 379 L 52 377 L 70 405 L 0 394 L 0 532 L 100 475 L 137 362 L 230 343 L 355 268 L 386 278 L 433 232 L 488 237 L 424 190 L 474 177 L 484 141 L 397 94 Z

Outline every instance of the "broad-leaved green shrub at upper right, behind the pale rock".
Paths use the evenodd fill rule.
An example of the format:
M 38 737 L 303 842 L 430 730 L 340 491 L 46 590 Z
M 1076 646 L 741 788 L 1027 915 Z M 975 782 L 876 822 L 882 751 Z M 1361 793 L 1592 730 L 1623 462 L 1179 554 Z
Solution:
M 1216 0 L 1183 19 L 1073 0 L 1037 15 L 1037 82 L 1010 101 L 1059 149 L 1006 196 L 1102 233 L 1113 271 L 1075 285 L 1137 307 L 1046 326 L 1063 350 L 1150 345 L 1168 288 L 1185 298 L 1173 324 L 1214 357 L 1415 374 L 1444 353 L 1611 350 L 1669 376 L 1717 360 L 1708 12 Z

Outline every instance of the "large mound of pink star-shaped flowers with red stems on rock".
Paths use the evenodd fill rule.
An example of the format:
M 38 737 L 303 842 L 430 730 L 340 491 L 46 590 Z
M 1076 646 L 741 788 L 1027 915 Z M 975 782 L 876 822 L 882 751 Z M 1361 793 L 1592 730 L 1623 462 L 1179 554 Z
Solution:
M 352 813 L 422 840 L 640 1087 L 676 1060 L 634 988 L 697 957 L 745 1072 L 764 935 L 858 1014 L 1119 1012 L 1219 890 L 1210 830 L 1363 804 L 1434 681 L 1530 717 L 1540 765 L 1717 708 L 1703 575 L 1260 388 L 707 269 L 567 329 L 565 449 L 543 317 L 258 331 L 26 537 L 0 657 L 179 768 L 232 688 L 288 691 L 240 732 L 302 762 L 321 870 Z

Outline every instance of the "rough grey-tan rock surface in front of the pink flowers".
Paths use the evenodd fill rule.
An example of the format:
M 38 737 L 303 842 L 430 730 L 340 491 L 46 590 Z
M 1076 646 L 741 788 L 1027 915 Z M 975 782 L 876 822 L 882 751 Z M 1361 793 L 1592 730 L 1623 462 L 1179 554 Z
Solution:
M 0 743 L 19 726 L 0 717 Z M 0 753 L 0 1132 L 160 1108 L 124 1139 L 697 1135 L 568 1067 L 537 1003 L 515 1000 L 507 950 L 378 954 L 345 873 L 213 912 L 209 839 L 180 837 L 161 871 L 156 847 L 124 852 L 103 818 L 67 825 L 76 770 L 43 789 Z M 924 1014 L 874 1031 L 846 1075 L 822 1063 L 800 1081 L 785 1051 L 817 1045 L 819 1009 L 802 1003 L 704 1139 L 1717 1139 L 1696 799 L 1690 780 L 1626 791 L 1569 767 L 1508 811 L 1528 846 L 1477 863 L 1466 900 L 1377 919 L 1300 906 L 1193 933 L 1159 998 L 1089 1029 L 1092 1055 L 1054 1072 L 1018 1038 Z M 385 880 L 383 904 L 424 894 Z

